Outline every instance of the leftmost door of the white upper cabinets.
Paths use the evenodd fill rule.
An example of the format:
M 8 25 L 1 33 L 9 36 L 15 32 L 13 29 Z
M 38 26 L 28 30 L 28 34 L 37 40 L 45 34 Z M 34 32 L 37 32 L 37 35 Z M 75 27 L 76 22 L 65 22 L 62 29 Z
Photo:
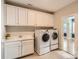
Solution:
M 18 24 L 18 8 L 16 6 L 7 5 L 6 25 L 17 25 L 17 24 Z

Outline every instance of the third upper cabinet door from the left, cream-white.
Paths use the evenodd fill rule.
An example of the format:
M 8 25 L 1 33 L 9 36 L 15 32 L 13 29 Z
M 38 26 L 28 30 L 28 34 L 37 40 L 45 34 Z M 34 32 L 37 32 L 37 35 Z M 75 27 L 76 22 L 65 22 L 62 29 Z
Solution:
M 28 10 L 28 25 L 36 25 L 36 11 Z

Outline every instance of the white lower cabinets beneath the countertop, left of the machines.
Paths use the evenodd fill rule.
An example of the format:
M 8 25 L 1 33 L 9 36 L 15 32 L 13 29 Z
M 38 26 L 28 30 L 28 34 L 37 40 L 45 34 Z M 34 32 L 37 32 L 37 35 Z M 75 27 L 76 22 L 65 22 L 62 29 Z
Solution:
M 5 59 L 15 59 L 17 57 L 25 56 L 34 53 L 34 41 L 15 41 L 5 43 Z

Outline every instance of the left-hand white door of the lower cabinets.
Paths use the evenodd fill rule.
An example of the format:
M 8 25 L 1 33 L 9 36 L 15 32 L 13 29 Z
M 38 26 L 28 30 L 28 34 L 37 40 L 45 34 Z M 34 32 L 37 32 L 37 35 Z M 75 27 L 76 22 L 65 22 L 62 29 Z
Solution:
M 5 59 L 14 59 L 21 56 L 20 42 L 5 43 Z

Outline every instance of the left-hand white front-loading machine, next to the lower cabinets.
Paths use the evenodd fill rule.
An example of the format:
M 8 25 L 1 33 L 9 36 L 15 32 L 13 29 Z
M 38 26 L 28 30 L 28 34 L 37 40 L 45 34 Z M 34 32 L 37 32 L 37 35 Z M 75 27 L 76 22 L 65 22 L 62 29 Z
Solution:
M 50 52 L 50 40 L 47 30 L 35 30 L 35 51 L 39 54 Z

